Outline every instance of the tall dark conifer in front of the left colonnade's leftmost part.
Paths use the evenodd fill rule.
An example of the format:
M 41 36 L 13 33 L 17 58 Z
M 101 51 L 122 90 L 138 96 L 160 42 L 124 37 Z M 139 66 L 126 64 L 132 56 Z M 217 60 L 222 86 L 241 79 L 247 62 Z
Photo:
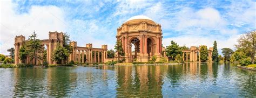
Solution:
M 43 45 L 41 41 L 37 39 L 37 34 L 35 31 L 29 36 L 29 40 L 25 43 L 25 48 L 28 50 L 28 56 L 30 60 L 34 60 L 34 65 L 37 65 L 37 60 L 43 60 L 39 53 L 43 52 Z

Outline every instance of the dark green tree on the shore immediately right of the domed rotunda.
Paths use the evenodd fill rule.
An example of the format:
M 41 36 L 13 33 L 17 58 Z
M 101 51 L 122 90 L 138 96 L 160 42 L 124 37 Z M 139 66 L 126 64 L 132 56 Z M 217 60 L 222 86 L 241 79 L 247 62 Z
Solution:
M 173 40 L 171 41 L 171 45 L 166 46 L 166 55 L 168 57 L 171 57 L 172 60 L 175 60 L 175 57 L 178 54 L 182 54 L 182 50 L 180 50 L 180 47 L 177 43 L 175 43 Z

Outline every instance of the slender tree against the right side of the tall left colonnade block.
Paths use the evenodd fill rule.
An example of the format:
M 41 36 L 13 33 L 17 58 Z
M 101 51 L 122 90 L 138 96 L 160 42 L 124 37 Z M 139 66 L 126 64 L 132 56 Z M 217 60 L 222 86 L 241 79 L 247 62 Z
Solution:
M 72 53 L 72 46 L 70 45 L 70 36 L 68 33 L 63 34 L 63 47 L 68 51 L 68 53 Z M 68 58 L 64 58 L 65 63 L 68 62 Z

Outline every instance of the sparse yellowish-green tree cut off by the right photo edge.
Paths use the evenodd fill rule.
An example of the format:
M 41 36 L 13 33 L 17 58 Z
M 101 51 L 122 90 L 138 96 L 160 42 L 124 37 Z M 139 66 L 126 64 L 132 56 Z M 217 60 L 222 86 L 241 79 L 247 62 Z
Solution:
M 245 52 L 248 52 L 251 57 L 251 62 L 254 64 L 254 56 L 256 50 L 256 30 L 242 34 L 238 39 L 237 48 L 243 48 Z

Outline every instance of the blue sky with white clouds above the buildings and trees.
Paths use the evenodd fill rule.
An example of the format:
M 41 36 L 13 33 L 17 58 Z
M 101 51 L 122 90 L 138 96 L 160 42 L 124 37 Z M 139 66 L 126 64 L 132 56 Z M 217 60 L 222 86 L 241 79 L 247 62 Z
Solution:
M 256 29 L 256 1 L 0 1 L 0 53 L 8 55 L 15 36 L 28 39 L 35 31 L 66 32 L 78 46 L 108 45 L 113 49 L 117 28 L 132 16 L 144 15 L 161 24 L 163 46 L 234 45 L 242 33 Z

